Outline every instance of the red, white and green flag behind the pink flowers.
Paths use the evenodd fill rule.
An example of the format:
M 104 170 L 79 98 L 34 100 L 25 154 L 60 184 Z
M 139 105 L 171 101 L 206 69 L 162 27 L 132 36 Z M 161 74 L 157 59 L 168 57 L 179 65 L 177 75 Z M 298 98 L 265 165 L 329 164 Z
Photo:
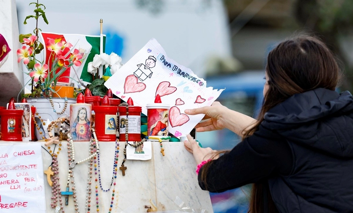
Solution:
M 93 61 L 93 57 L 95 54 L 100 54 L 100 36 L 99 35 L 81 35 L 81 34 L 58 34 L 58 33 L 45 33 L 45 32 L 40 32 L 40 37 L 43 41 L 43 45 L 48 42 L 49 39 L 57 39 L 63 37 L 65 42 L 69 42 L 73 45 L 71 47 L 71 52 L 74 49 L 78 49 L 80 52 L 83 52 L 83 61 L 81 66 L 77 67 L 75 65 L 72 65 L 72 67 L 69 67 L 64 71 L 64 73 L 61 74 L 60 79 L 58 81 L 60 82 L 73 82 L 75 83 L 75 86 L 77 86 L 78 79 L 82 79 L 84 84 L 90 84 L 93 81 L 92 74 L 87 72 L 87 67 L 88 63 Z M 105 46 L 106 46 L 106 35 L 103 35 L 103 52 L 105 51 Z M 45 48 L 45 62 L 46 64 L 50 64 L 49 62 L 49 56 L 50 56 L 50 51 Z M 50 67 L 50 65 L 49 65 Z M 70 76 L 72 79 L 76 80 L 73 81 L 71 78 L 68 78 Z

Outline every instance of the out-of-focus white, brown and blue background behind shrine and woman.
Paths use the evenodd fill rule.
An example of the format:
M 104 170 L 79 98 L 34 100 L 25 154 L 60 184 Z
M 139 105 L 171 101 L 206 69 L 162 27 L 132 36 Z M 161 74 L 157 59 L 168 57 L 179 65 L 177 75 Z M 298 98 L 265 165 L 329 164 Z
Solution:
M 19 32 L 32 33 L 33 0 L 17 0 Z M 353 88 L 352 0 L 40 0 L 49 24 L 42 31 L 107 35 L 106 53 L 125 63 L 150 38 L 173 58 L 226 90 L 218 101 L 256 117 L 262 103 L 268 52 L 299 33 L 319 36 L 334 51 L 344 70 L 340 90 Z M 197 133 L 202 145 L 232 149 L 239 138 L 231 131 Z M 251 168 L 249 168 L 251 169 Z M 239 171 L 242 172 L 242 171 Z M 211 193 L 214 212 L 247 212 L 251 186 Z

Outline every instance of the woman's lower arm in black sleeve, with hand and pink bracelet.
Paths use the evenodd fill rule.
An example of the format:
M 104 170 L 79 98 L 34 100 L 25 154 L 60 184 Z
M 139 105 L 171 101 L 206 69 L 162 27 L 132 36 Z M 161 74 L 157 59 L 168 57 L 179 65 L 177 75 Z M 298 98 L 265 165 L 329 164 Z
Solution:
M 195 146 L 192 146 L 192 151 L 197 163 L 210 158 Z M 203 190 L 222 192 L 255 183 L 270 175 L 288 175 L 293 166 L 293 154 L 285 139 L 260 127 L 231 151 L 209 163 L 207 170 L 203 171 L 207 168 L 203 166 L 199 171 L 199 185 Z

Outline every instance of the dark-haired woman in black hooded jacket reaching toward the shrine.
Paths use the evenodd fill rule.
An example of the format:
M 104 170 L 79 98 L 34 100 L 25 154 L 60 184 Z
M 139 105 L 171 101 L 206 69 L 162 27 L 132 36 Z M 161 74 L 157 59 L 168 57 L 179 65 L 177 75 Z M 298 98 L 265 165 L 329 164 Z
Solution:
M 316 38 L 284 41 L 269 53 L 265 78 L 258 120 L 217 102 L 185 110 L 211 118 L 198 132 L 228 128 L 244 138 L 219 156 L 188 136 L 199 185 L 222 192 L 254 183 L 251 213 L 352 212 L 353 97 L 335 92 L 333 54 Z

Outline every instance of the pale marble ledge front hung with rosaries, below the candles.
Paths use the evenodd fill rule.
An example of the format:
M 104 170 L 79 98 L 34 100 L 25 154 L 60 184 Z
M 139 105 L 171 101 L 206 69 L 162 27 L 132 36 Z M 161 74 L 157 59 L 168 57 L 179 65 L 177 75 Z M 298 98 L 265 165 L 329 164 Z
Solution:
M 2 141 L 0 141 L 2 142 Z M 41 143 L 44 148 L 44 142 Z M 58 147 L 58 146 L 57 146 Z M 124 142 L 119 145 L 118 173 L 116 178 L 113 207 L 111 212 L 146 212 L 146 207 L 151 207 L 151 212 L 180 211 L 212 213 L 212 205 L 208 191 L 203 191 L 198 186 L 195 173 L 196 162 L 191 153 L 181 142 L 164 142 L 165 156 L 160 152 L 159 142 L 152 142 L 152 159 L 147 161 L 126 160 L 125 176 L 122 176 L 119 167 L 124 159 L 122 150 Z M 62 143 L 62 150 L 58 155 L 59 175 L 61 189 L 67 181 L 68 155 L 67 145 Z M 74 142 L 75 159 L 80 161 L 88 157 L 89 142 Z M 57 149 L 57 148 L 56 148 Z M 102 188 L 107 190 L 112 183 L 115 142 L 100 142 L 100 174 Z M 43 170 L 51 163 L 51 156 L 42 149 Z M 94 171 L 94 170 L 93 170 Z M 80 212 L 85 211 L 86 189 L 88 183 L 88 162 L 74 167 L 75 183 L 77 188 L 78 205 Z M 44 175 L 44 174 L 43 174 Z M 44 177 L 46 179 L 46 177 Z M 96 211 L 95 175 L 92 175 L 91 212 Z M 97 179 L 99 179 L 97 175 Z M 99 180 L 98 180 L 99 181 Z M 98 184 L 98 201 L 100 212 L 108 212 L 112 198 L 113 185 L 110 191 L 104 192 Z M 45 186 L 47 212 L 55 212 L 50 207 L 51 188 Z M 185 210 L 188 209 L 189 210 Z M 65 212 L 75 212 L 72 197 L 69 205 L 64 206 Z M 205 210 L 205 211 L 203 211 Z

